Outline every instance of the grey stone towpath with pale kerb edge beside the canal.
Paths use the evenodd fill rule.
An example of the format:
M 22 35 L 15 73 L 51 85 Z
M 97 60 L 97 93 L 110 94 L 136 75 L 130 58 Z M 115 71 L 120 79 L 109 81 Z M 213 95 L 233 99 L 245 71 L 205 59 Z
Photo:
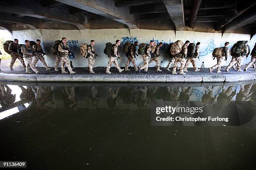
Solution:
M 247 72 L 236 72 L 230 69 L 225 72 L 225 68 L 221 68 L 221 73 L 209 72 L 208 68 L 201 69 L 200 72 L 194 72 L 189 68 L 186 75 L 172 75 L 171 71 L 164 70 L 156 72 L 155 68 L 150 67 L 149 73 L 135 72 L 133 67 L 130 71 L 118 72 L 117 69 L 111 67 L 112 74 L 105 73 L 106 67 L 95 67 L 95 74 L 90 74 L 85 68 L 74 68 L 75 74 L 61 74 L 56 72 L 54 68 L 45 70 L 38 67 L 39 74 L 26 74 L 22 67 L 15 67 L 14 70 L 3 68 L 0 71 L 0 80 L 12 81 L 28 81 L 28 82 L 239 82 L 245 80 L 255 80 L 256 72 L 253 68 L 249 68 Z M 67 69 L 66 69 L 67 70 Z

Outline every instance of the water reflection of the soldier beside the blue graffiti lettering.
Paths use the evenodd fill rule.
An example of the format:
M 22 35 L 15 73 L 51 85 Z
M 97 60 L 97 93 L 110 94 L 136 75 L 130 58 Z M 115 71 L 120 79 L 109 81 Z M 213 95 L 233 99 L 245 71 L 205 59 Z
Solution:
M 75 98 L 74 87 L 60 87 L 64 94 L 64 105 L 77 111 L 77 99 Z

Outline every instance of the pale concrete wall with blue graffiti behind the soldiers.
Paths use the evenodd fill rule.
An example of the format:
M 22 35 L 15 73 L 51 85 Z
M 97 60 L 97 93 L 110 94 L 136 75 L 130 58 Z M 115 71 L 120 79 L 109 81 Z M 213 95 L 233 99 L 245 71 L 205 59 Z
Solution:
M 20 30 L 13 31 L 13 37 L 18 38 L 20 44 L 24 42 L 24 40 L 36 40 L 41 39 L 42 46 L 44 51 L 47 54 L 50 53 L 50 47 L 54 43 L 55 40 L 61 39 L 61 37 L 67 37 L 69 40 L 69 46 L 72 51 L 75 53 L 75 58 L 70 59 L 73 61 L 74 67 L 87 67 L 88 61 L 84 59 L 80 55 L 80 45 L 82 43 L 90 44 L 90 40 L 95 40 L 95 51 L 97 54 L 101 55 L 101 57 L 96 58 L 95 66 L 106 66 L 108 59 L 105 58 L 103 53 L 103 49 L 105 48 L 106 42 L 115 43 L 115 40 L 119 39 L 122 43 L 126 41 L 138 41 L 139 43 L 146 42 L 149 43 L 150 40 L 154 40 L 155 42 L 163 42 L 164 45 L 161 48 L 161 57 L 160 61 L 162 61 L 161 66 L 166 67 L 169 63 L 170 58 L 167 55 L 167 49 L 170 42 L 174 42 L 176 40 L 190 42 L 201 42 L 200 46 L 200 60 L 197 62 L 197 66 L 201 67 L 202 62 L 205 62 L 205 67 L 211 67 L 215 65 L 216 60 L 212 60 L 212 51 L 215 47 L 221 47 L 224 45 L 226 41 L 230 42 L 230 48 L 233 44 L 238 40 L 248 40 L 251 49 L 253 48 L 256 35 L 252 38 L 249 34 L 235 34 L 235 33 L 207 33 L 207 32 L 194 32 L 194 31 L 175 31 L 174 30 L 144 30 L 144 29 L 99 29 L 99 30 Z M 251 38 L 251 40 L 250 40 Z M 118 60 L 120 66 L 124 66 L 126 62 L 126 57 L 123 53 L 123 45 L 119 47 L 119 53 L 121 60 Z M 136 65 L 140 66 L 143 63 L 142 57 L 137 57 Z M 49 66 L 54 67 L 55 58 L 52 55 L 45 56 L 46 62 Z M 228 60 L 223 61 L 223 65 L 228 65 L 231 60 L 231 56 L 228 57 Z M 246 60 L 243 60 L 243 64 L 248 63 L 250 61 L 250 57 Z M 42 65 L 41 62 L 38 62 L 38 65 Z M 130 64 L 132 65 L 132 64 Z M 154 63 L 149 65 L 150 67 L 154 67 Z M 190 65 L 189 67 L 192 67 Z

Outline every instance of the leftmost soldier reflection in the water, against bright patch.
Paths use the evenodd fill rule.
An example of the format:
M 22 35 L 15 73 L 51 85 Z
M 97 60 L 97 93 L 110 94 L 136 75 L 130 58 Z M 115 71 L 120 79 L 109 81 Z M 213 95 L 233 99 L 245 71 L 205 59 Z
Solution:
M 5 90 L 6 88 L 6 90 Z M 0 101 L 2 107 L 14 106 L 16 95 L 12 95 L 12 90 L 8 85 L 0 85 Z

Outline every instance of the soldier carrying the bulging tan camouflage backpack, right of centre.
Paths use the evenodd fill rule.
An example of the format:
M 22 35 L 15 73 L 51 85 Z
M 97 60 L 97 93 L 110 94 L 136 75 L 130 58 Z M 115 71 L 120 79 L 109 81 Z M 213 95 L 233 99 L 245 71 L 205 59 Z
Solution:
M 175 55 L 175 61 L 174 61 L 174 66 L 172 68 L 172 74 L 177 74 L 176 72 L 176 68 L 178 63 L 180 62 L 180 69 L 179 69 L 179 74 L 180 75 L 185 75 L 186 73 L 184 73 L 184 66 L 186 63 L 186 59 L 185 57 L 187 56 L 187 46 L 189 45 L 189 40 L 187 40 L 185 42 L 185 44 L 182 46 L 182 50 L 179 54 Z

